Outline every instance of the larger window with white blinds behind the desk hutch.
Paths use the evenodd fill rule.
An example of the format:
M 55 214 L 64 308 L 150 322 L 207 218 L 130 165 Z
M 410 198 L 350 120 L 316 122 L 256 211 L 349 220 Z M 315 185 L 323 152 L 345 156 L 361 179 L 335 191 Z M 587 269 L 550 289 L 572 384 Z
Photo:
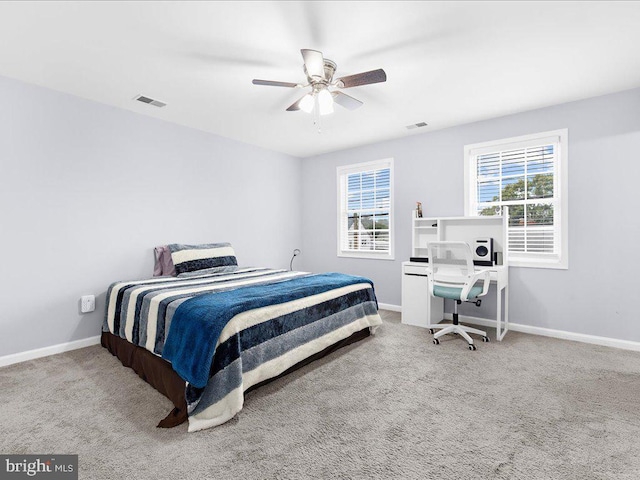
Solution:
M 465 215 L 509 207 L 509 264 L 567 268 L 567 130 L 465 146 Z

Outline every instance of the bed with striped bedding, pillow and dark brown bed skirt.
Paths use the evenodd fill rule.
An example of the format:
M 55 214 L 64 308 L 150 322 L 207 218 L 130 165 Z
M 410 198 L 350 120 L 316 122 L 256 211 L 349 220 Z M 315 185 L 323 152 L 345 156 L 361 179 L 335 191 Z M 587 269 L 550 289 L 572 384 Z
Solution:
M 228 243 L 167 247 L 175 276 L 112 283 L 102 329 L 102 345 L 173 402 L 159 426 L 220 425 L 247 391 L 382 323 L 367 278 L 239 267 Z

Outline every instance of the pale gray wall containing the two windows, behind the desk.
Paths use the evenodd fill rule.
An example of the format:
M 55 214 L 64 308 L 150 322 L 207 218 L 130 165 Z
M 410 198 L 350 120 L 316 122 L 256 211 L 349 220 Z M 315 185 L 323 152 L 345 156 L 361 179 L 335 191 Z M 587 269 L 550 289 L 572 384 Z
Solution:
M 380 302 L 400 305 L 415 202 L 425 216 L 464 214 L 463 146 L 560 128 L 569 129 L 569 269 L 511 268 L 510 320 L 640 341 L 640 89 L 305 159 L 305 269 L 369 276 Z M 395 159 L 396 259 L 338 258 L 336 166 L 387 157 Z

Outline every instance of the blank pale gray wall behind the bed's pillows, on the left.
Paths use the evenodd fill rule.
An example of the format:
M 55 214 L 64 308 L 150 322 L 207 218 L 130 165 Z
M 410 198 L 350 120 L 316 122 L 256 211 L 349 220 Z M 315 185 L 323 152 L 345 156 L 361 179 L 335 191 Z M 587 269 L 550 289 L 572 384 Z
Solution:
M 0 106 L 0 356 L 99 335 L 156 245 L 282 268 L 301 245 L 300 159 L 1 77 Z

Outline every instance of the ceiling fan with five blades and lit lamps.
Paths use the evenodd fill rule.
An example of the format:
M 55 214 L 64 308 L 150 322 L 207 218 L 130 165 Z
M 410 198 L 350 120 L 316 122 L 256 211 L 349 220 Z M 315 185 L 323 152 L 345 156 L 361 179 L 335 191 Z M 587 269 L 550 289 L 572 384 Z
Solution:
M 387 74 L 381 68 L 333 80 L 333 74 L 337 68 L 334 61 L 324 58 L 322 52 L 317 50 L 302 49 L 300 53 L 302 53 L 304 60 L 304 73 L 308 83 L 253 80 L 254 85 L 289 88 L 311 87 L 311 91 L 289 106 L 287 112 L 302 110 L 307 113 L 314 112 L 326 115 L 333 113 L 334 102 L 348 110 L 355 110 L 362 105 L 360 100 L 338 90 L 329 90 L 329 88 L 351 88 L 387 81 Z

